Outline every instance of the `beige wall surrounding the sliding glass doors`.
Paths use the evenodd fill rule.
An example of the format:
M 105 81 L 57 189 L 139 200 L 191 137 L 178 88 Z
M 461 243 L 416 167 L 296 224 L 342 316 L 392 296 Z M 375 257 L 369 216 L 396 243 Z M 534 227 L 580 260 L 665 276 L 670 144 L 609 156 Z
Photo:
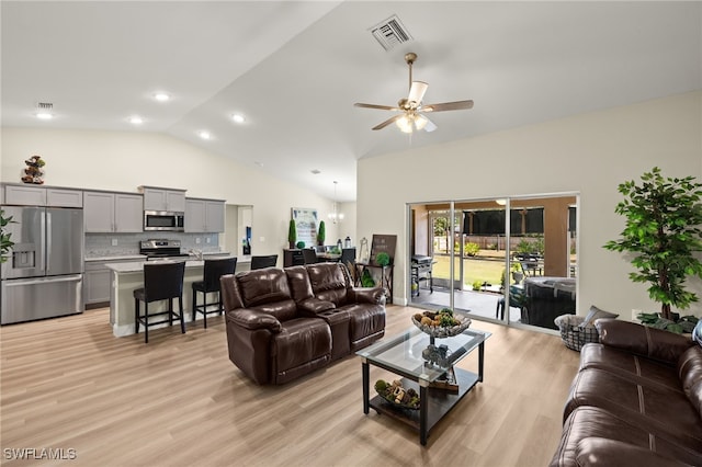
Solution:
M 614 213 L 618 184 L 654 166 L 665 175 L 702 179 L 702 91 L 361 159 L 358 235 L 398 236 L 394 298 L 401 303 L 407 203 L 576 192 L 578 311 L 597 304 L 630 319 L 632 309 L 659 307 L 644 285 L 629 281 L 630 263 L 602 244 L 624 225 Z M 430 183 L 414 183 L 419 172 Z M 702 297 L 702 284 L 692 285 Z M 692 311 L 702 315 L 700 305 Z

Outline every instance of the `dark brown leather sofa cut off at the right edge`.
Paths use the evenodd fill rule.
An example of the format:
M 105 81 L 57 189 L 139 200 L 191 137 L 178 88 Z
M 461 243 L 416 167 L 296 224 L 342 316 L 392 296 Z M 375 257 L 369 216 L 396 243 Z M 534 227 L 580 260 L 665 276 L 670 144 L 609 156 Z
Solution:
M 702 341 L 596 326 L 600 343 L 581 349 L 551 466 L 702 465 Z

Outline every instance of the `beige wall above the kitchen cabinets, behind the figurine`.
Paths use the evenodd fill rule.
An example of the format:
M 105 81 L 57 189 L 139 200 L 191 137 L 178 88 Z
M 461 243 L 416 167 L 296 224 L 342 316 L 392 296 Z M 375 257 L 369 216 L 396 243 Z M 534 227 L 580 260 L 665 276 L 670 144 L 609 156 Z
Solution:
M 185 189 L 192 197 L 251 205 L 252 252 L 279 253 L 280 264 L 291 207 L 316 207 L 322 218 L 331 209 L 331 200 L 168 135 L 2 128 L 1 147 L 2 182 L 18 183 L 24 160 L 39 155 L 46 161 L 47 185 L 125 192 L 137 192 L 139 185 L 166 186 Z M 332 225 L 327 232 L 335 239 L 340 234 Z

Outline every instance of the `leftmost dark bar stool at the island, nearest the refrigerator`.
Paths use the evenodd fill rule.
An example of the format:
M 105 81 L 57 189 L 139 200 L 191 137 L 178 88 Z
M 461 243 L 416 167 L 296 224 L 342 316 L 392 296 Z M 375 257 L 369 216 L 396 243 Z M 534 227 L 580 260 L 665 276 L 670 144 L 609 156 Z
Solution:
M 185 333 L 183 319 L 183 276 L 185 262 L 144 263 L 144 287 L 134 291 L 134 326 L 139 332 L 139 323 L 144 324 L 144 342 L 149 342 L 149 326 L 168 322 L 173 326 L 173 318 L 180 319 L 181 332 Z M 173 298 L 178 298 L 179 312 L 173 311 Z M 151 301 L 168 300 L 168 310 L 149 315 Z M 144 316 L 140 315 L 139 303 L 144 301 Z M 149 318 L 168 316 L 168 319 L 149 322 Z

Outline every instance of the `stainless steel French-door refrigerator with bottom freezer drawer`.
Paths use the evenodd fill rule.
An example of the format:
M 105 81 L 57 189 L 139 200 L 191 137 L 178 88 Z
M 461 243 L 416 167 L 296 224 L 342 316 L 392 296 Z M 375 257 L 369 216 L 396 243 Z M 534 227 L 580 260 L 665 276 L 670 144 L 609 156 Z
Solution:
M 0 270 L 0 324 L 83 311 L 83 212 L 2 206 L 14 247 Z

